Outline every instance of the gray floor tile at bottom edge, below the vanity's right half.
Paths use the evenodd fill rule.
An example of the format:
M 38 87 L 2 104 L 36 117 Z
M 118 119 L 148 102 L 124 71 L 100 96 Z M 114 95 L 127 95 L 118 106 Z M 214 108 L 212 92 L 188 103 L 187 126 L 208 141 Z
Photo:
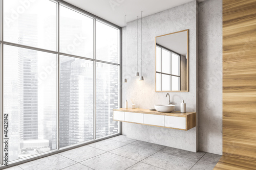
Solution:
M 154 155 L 144 159 L 142 162 L 167 170 L 187 170 L 193 167 L 197 160 L 167 154 L 164 152 L 157 152 Z

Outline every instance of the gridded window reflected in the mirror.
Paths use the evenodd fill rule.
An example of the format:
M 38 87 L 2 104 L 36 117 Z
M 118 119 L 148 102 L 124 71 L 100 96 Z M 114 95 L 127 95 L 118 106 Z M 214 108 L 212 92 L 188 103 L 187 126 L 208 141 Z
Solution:
M 156 90 L 180 90 L 180 54 L 156 45 Z

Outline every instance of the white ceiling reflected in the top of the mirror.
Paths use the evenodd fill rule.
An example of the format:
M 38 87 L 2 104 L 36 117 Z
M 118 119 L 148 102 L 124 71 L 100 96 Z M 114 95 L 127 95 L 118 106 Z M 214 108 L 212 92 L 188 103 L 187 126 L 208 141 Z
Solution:
M 157 37 L 157 43 L 168 48 L 169 50 L 186 56 L 187 32 L 184 31 L 175 34 L 169 34 L 162 37 Z

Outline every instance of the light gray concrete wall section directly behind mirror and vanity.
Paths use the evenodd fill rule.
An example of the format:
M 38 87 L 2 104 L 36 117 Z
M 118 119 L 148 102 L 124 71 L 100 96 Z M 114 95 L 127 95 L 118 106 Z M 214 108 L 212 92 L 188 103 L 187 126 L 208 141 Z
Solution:
M 138 14 L 139 15 L 139 14 Z M 127 16 L 128 17 L 128 16 Z M 140 28 L 139 20 L 139 28 Z M 126 26 L 126 78 L 122 84 L 122 106 L 125 100 L 135 99 L 137 108 L 154 108 L 155 104 L 167 104 L 166 92 L 155 92 L 155 37 L 189 29 L 189 92 L 169 92 L 171 100 L 180 110 L 180 103 L 185 100 L 187 111 L 197 112 L 197 2 L 193 1 L 169 10 L 165 10 L 142 19 L 142 75 L 144 81 L 135 77 L 136 73 L 136 20 Z M 139 29 L 139 52 L 140 34 Z M 123 29 L 124 40 L 124 29 Z M 123 43 L 123 42 L 122 42 Z M 124 50 L 124 48 L 122 48 Z M 124 64 L 124 51 L 122 52 Z M 140 54 L 140 53 L 139 53 Z M 139 72 L 140 71 L 139 55 Z M 122 65 L 124 78 L 124 65 Z M 189 131 L 122 124 L 122 134 L 138 140 L 167 145 L 178 149 L 197 151 L 197 127 Z

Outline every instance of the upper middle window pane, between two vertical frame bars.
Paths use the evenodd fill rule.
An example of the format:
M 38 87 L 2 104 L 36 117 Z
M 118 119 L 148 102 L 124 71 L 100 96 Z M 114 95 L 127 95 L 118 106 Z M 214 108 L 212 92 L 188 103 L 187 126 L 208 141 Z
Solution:
M 93 58 L 93 19 L 59 6 L 60 52 Z

